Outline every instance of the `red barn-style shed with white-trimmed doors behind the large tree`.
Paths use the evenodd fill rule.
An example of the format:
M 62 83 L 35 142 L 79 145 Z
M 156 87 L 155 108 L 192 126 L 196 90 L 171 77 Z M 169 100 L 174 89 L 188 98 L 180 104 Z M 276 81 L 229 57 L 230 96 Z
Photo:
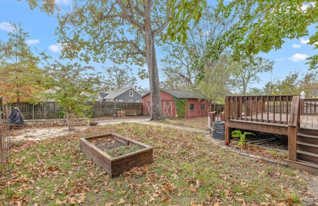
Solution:
M 208 101 L 202 94 L 189 91 L 177 91 L 172 89 L 160 89 L 162 113 L 165 118 L 176 119 L 177 112 L 174 98 L 188 99 L 188 105 L 185 111 L 185 118 L 205 117 L 207 116 Z M 143 115 L 151 116 L 151 98 L 150 92 L 142 96 Z

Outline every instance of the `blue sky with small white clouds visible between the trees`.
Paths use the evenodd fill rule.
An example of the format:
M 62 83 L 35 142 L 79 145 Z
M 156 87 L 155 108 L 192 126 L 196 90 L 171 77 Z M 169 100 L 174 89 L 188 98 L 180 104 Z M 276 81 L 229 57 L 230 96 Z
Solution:
M 67 10 L 70 9 L 72 0 L 56 0 L 56 2 Z M 31 10 L 25 0 L 0 0 L 0 39 L 6 41 L 7 33 L 10 31 L 9 22 L 21 24 L 24 31 L 29 33 L 27 39 L 31 48 L 36 47 L 38 51 L 46 51 L 53 58 L 58 58 L 60 53 L 60 45 L 57 44 L 57 37 L 54 35 L 54 30 L 58 26 L 58 21 L 54 16 L 48 16 L 41 12 L 38 8 Z M 310 28 L 311 34 L 314 34 L 315 27 Z M 309 37 L 302 39 L 285 40 L 282 49 L 271 51 L 268 54 L 261 54 L 264 58 L 274 61 L 272 73 L 261 74 L 262 81 L 253 86 L 263 87 L 271 78 L 284 79 L 290 71 L 299 70 L 301 73 L 308 72 L 308 66 L 305 65 L 307 57 L 313 56 L 317 51 L 313 47 L 307 45 Z M 157 52 L 159 54 L 159 52 Z M 158 60 L 160 57 L 158 57 Z M 101 65 L 92 63 L 95 69 L 101 70 Z M 114 66 L 111 62 L 109 66 Z M 159 63 L 160 67 L 160 63 Z M 139 67 L 132 67 L 137 76 Z M 160 80 L 163 80 L 162 78 Z M 149 80 L 141 80 L 138 78 L 138 85 L 143 88 L 149 88 Z

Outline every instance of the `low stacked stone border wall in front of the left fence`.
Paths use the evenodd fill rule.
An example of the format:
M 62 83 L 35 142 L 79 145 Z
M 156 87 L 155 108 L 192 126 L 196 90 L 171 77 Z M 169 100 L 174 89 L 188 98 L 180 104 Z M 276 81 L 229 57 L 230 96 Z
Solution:
M 88 118 L 75 119 L 74 126 L 88 126 Z M 68 119 L 55 120 L 25 120 L 24 127 L 67 127 Z

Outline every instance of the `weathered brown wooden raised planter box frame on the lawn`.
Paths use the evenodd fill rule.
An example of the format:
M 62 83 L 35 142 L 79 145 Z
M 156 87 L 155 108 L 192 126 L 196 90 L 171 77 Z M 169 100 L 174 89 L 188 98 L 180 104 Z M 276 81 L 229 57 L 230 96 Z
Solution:
M 124 145 L 138 145 L 141 149 L 121 156 L 112 157 L 92 143 L 95 140 L 102 140 L 103 138 L 114 138 Z M 133 167 L 140 167 L 153 162 L 153 147 L 117 134 L 80 138 L 80 150 L 88 158 L 92 159 L 95 164 L 106 170 L 110 177 L 117 177 Z

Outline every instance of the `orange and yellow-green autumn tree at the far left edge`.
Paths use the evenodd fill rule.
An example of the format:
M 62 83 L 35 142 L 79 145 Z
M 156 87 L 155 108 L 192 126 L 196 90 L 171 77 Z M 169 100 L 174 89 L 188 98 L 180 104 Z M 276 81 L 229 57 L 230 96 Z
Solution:
M 20 25 L 12 26 L 8 40 L 0 40 L 0 94 L 6 102 L 36 102 L 43 78 L 40 58 L 25 42 L 28 33 Z

